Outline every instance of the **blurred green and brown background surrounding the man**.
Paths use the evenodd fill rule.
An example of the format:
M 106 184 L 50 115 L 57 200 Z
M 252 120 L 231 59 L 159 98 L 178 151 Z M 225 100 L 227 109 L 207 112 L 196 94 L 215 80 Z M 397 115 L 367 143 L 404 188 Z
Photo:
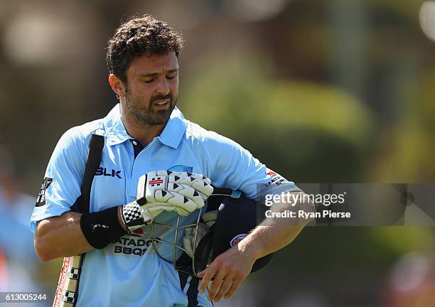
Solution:
M 36 195 L 63 132 L 117 103 L 105 44 L 120 20 L 146 13 L 186 38 L 186 118 L 286 178 L 434 182 L 435 44 L 419 18 L 433 4 L 0 0 L 0 146 Z M 409 252 L 433 260 L 434 238 L 431 227 L 308 227 L 218 306 L 426 306 L 394 305 L 390 279 Z M 54 293 L 60 262 L 41 267 Z

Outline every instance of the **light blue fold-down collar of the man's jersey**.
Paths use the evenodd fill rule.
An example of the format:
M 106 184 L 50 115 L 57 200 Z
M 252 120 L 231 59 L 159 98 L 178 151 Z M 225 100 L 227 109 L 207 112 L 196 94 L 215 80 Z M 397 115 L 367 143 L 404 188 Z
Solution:
M 121 144 L 124 141 L 133 139 L 126 131 L 124 124 L 121 120 L 120 104 L 118 103 L 104 118 L 104 129 L 106 131 L 107 143 L 110 146 Z M 176 149 L 183 138 L 186 131 L 186 120 L 183 114 L 175 107 L 171 113 L 168 124 L 161 132 L 160 136 L 157 136 L 162 144 L 170 146 Z

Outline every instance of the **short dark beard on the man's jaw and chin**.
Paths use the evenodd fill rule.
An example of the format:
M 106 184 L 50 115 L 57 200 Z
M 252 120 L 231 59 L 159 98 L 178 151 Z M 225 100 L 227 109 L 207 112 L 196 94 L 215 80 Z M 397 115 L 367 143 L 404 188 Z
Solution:
M 153 109 L 153 102 L 159 99 L 169 99 L 168 109 Z M 133 115 L 136 123 L 143 127 L 168 123 L 176 103 L 177 97 L 173 97 L 171 94 L 153 96 L 149 99 L 149 102 L 146 103 L 144 97 L 132 97 L 128 90 L 125 92 L 125 104 L 127 105 L 127 109 L 129 109 L 129 112 Z

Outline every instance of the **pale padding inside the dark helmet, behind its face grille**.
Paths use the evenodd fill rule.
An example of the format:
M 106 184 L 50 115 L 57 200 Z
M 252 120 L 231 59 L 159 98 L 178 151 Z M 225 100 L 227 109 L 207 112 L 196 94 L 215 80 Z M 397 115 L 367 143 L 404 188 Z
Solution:
M 193 258 L 196 247 L 200 243 L 201 239 L 210 232 L 210 229 L 215 225 L 216 219 L 218 218 L 218 210 L 213 210 L 205 212 L 202 217 L 202 222 L 198 224 L 198 235 L 196 236 L 195 242 L 195 230 L 196 227 L 186 227 L 183 234 L 183 248 L 186 254 L 190 258 Z M 196 244 L 195 244 L 196 243 Z

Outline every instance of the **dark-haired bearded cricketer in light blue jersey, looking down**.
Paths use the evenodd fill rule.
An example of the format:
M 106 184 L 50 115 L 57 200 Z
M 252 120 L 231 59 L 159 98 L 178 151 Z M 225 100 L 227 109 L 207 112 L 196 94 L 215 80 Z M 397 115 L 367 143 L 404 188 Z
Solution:
M 265 221 L 198 274 L 198 289 L 147 248 L 150 223 L 188 220 L 212 183 L 249 198 L 257 197 L 259 183 L 298 190 L 234 141 L 184 119 L 176 107 L 182 47 L 182 36 L 151 16 L 123 23 L 107 50 L 109 83 L 120 103 L 104 119 L 67 131 L 50 158 L 31 229 L 44 261 L 86 253 L 77 306 L 212 306 L 232 296 L 256 259 L 301 230 Z M 80 196 L 93 133 L 105 143 L 90 213 L 80 214 L 70 208 Z M 165 189 L 155 188 L 158 181 L 166 181 Z M 171 240 L 173 231 L 161 237 Z

